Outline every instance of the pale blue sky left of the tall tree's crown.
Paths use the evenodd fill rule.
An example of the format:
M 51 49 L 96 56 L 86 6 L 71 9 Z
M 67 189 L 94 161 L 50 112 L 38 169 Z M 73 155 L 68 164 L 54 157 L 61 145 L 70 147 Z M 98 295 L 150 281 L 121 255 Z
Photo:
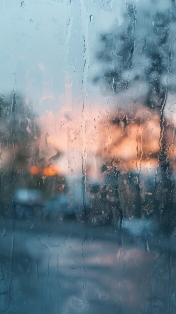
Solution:
M 100 97 L 99 36 L 122 22 L 121 0 L 1 0 L 0 86 L 43 113 Z

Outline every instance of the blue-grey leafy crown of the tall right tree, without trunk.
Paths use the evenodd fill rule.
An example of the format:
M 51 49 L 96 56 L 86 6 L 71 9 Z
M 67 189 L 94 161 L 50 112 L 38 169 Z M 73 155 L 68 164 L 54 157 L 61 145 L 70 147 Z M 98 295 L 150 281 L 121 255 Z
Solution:
M 104 92 L 127 92 L 132 102 L 161 108 L 168 90 L 176 91 L 175 28 L 175 1 L 129 2 L 122 24 L 101 35 L 103 70 L 94 82 Z

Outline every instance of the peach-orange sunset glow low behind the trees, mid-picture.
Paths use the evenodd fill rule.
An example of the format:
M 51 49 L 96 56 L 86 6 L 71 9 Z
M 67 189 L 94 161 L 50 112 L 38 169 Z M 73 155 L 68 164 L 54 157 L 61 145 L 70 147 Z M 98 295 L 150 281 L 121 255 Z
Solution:
M 115 114 L 118 123 L 114 123 Z M 60 114 L 47 111 L 40 116 L 40 127 L 40 158 L 46 160 L 43 170 L 46 176 L 81 174 L 82 158 L 97 179 L 102 165 L 110 161 L 125 172 L 148 169 L 153 174 L 158 167 L 160 116 L 145 106 L 132 114 L 130 110 L 126 113 L 121 110 L 109 115 L 107 110 L 100 111 L 98 107 L 86 109 L 84 116 L 79 111 Z M 169 134 L 167 137 L 169 142 Z M 56 166 L 50 167 L 49 160 L 57 151 L 61 152 L 60 158 Z M 168 158 L 173 155 L 174 144 L 168 149 Z M 31 173 L 37 174 L 34 166 Z

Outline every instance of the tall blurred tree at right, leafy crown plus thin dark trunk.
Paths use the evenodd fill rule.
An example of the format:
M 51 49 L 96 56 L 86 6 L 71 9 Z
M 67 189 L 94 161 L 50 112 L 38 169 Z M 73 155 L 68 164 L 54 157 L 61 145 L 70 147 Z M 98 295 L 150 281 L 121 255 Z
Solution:
M 122 23 L 117 23 L 109 33 L 100 36 L 102 49 L 97 54 L 97 61 L 101 69 L 94 77 L 94 83 L 100 85 L 104 94 L 117 95 L 118 109 L 125 112 L 130 105 L 136 109 L 143 104 L 153 109 L 153 114 L 160 114 L 160 167 L 155 175 L 152 203 L 155 213 L 163 218 L 161 221 L 166 232 L 173 219 L 171 193 L 174 186 L 167 159 L 164 107 L 168 93 L 176 92 L 175 29 L 175 1 L 128 1 Z M 167 192 L 164 194 L 163 191 Z

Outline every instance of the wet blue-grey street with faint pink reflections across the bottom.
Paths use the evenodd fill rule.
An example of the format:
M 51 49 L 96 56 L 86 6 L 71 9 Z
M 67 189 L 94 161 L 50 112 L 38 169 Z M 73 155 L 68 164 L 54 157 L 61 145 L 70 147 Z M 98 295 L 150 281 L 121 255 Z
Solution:
M 154 222 L 2 218 L 0 232 L 1 313 L 175 313 L 175 243 Z

